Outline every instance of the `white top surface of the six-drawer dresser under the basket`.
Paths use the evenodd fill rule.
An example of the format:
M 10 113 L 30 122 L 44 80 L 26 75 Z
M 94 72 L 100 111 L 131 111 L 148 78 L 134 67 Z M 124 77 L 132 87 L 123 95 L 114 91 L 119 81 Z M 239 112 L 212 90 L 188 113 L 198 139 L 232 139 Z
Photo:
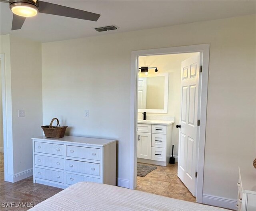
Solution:
M 45 136 L 38 136 L 32 138 L 33 140 L 44 140 L 44 141 L 62 141 L 67 143 L 83 143 L 92 146 L 105 146 L 116 142 L 116 140 L 102 139 L 102 138 L 88 138 L 79 136 L 64 136 L 62 138 L 46 138 Z

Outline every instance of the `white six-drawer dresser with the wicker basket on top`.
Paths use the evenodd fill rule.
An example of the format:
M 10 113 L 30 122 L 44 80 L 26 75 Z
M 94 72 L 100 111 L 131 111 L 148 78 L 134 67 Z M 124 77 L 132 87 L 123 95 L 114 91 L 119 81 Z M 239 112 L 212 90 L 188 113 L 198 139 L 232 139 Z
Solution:
M 34 183 L 60 188 L 79 181 L 116 185 L 116 140 L 76 136 L 32 140 Z

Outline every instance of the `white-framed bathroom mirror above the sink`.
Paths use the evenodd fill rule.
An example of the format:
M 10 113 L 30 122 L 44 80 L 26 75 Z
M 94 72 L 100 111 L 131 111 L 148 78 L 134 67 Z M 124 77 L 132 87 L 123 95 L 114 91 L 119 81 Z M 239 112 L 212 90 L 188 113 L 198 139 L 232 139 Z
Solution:
M 138 112 L 167 113 L 169 73 L 140 73 Z

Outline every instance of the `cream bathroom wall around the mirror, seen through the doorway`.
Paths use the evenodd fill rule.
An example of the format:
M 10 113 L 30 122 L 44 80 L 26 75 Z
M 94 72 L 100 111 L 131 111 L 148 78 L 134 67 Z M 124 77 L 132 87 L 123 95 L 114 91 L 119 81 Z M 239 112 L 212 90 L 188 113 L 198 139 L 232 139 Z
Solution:
M 178 156 L 179 143 L 179 130 L 176 128 L 176 125 L 180 124 L 181 62 L 188 59 L 192 55 L 193 53 L 180 53 L 139 57 L 139 67 L 157 67 L 158 73 L 169 73 L 168 112 L 166 114 L 150 113 L 149 115 L 175 117 L 175 122 L 172 124 L 172 144 L 174 144 L 174 156 Z M 152 72 L 154 72 L 153 69 L 150 70 L 150 73 Z M 142 119 L 143 115 L 138 113 L 138 116 L 140 119 Z

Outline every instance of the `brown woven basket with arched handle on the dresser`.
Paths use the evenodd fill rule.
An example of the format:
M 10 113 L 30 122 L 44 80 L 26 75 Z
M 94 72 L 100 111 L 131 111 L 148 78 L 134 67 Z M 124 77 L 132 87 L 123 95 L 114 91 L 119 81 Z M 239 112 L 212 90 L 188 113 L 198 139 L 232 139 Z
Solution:
M 57 120 L 56 126 L 52 126 L 52 123 L 54 120 Z M 44 130 L 44 135 L 46 138 L 62 138 L 62 137 L 64 137 L 67 127 L 68 126 L 61 127 L 59 120 L 57 118 L 53 118 L 50 125 L 41 126 L 41 128 Z

